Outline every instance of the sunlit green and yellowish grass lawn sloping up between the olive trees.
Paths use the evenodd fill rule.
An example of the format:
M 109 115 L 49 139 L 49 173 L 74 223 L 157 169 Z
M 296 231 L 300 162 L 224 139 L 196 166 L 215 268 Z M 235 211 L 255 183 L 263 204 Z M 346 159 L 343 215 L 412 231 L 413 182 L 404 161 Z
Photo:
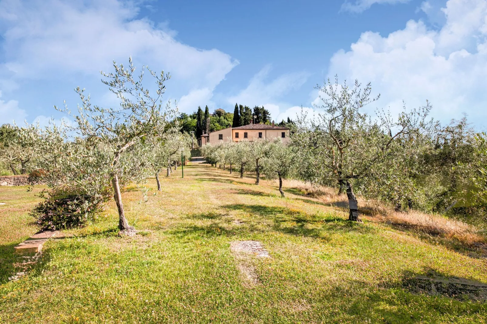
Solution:
M 7 280 L 13 247 L 36 232 L 28 213 L 40 188 L 1 187 L 0 323 L 487 323 L 486 302 L 421 293 L 417 279 L 487 283 L 486 259 L 373 217 L 350 223 L 338 203 L 289 187 L 281 198 L 274 182 L 253 182 L 204 164 L 162 178 L 155 196 L 150 180 L 148 202 L 129 188 L 139 234 L 117 236 L 110 203 L 93 225 L 48 241 L 16 282 Z M 243 240 L 270 257 L 232 253 Z

